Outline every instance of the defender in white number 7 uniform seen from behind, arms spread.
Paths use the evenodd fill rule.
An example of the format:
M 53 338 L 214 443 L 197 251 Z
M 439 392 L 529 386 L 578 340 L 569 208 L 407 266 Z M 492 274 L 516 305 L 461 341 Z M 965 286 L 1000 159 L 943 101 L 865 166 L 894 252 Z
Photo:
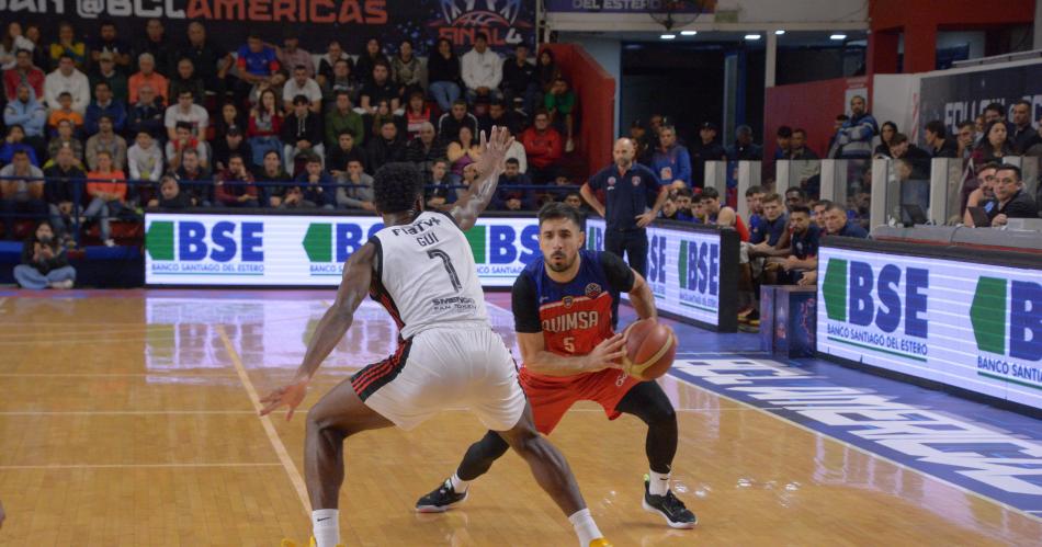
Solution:
M 267 404 L 261 414 L 286 406 L 286 419 L 292 418 L 366 294 L 398 324 L 394 355 L 332 388 L 307 413 L 304 474 L 313 509 L 312 545 L 335 547 L 340 540 L 338 498 L 347 437 L 390 425 L 410 430 L 461 406 L 528 461 L 540 487 L 568 515 L 579 545 L 609 545 L 568 463 L 535 431 L 510 352 L 488 322 L 463 230 L 474 226 L 496 194 L 513 139 L 500 127 L 492 127 L 488 143 L 484 133 L 480 138 L 477 168 L 484 180 L 450 214 L 423 210 L 422 178 L 410 163 L 388 163 L 376 172 L 375 205 L 386 227 L 348 259 L 337 300 L 318 323 L 293 381 L 261 399 Z M 618 352 L 605 361 L 620 356 Z

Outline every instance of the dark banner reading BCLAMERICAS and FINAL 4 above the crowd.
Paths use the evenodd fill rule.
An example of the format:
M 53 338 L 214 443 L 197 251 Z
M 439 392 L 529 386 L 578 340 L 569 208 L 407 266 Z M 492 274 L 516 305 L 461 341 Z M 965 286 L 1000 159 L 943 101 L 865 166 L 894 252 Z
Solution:
M 325 53 L 331 38 L 349 54 L 360 53 L 370 37 L 395 49 L 410 38 L 419 55 L 439 37 L 468 47 L 478 32 L 500 50 L 535 43 L 535 0 L 0 0 L 0 20 L 38 25 L 45 45 L 56 39 L 59 21 L 71 22 L 89 46 L 99 23 L 111 20 L 133 46 L 144 41 L 149 19 L 162 21 L 174 47 L 188 41 L 188 24 L 197 21 L 208 39 L 229 52 L 243 45 L 250 31 L 279 45 L 293 31 L 313 54 Z

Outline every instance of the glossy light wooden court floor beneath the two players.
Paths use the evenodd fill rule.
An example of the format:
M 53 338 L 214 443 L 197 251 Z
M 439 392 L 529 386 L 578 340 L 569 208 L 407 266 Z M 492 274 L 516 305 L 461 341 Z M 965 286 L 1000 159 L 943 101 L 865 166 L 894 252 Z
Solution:
M 123 292 L 0 298 L 0 500 L 11 546 L 273 546 L 306 539 L 303 415 L 256 414 L 286 380 L 331 293 Z M 491 308 L 497 330 L 509 315 Z M 366 304 L 304 407 L 384 356 Z M 508 334 L 508 342 L 512 343 Z M 667 377 L 680 415 L 672 531 L 641 510 L 643 424 L 579 406 L 552 440 L 618 546 L 1037 545 L 1042 524 L 921 474 Z M 348 545 L 573 546 L 568 522 L 508 455 L 442 515 L 412 504 L 483 434 L 463 409 L 347 443 Z

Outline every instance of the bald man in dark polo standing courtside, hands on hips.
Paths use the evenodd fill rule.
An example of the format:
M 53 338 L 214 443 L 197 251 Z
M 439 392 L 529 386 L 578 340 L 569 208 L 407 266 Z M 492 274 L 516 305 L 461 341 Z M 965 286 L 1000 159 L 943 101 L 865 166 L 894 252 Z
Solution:
M 604 250 L 619 257 L 625 252 L 630 267 L 647 275 L 647 231 L 644 228 L 658 216 L 666 203 L 667 191 L 650 169 L 634 163 L 635 153 L 632 140 L 616 140 L 612 149 L 615 163 L 582 184 L 580 193 L 608 225 Z M 593 194 L 602 189 L 608 200 L 607 208 Z M 654 203 L 652 210 L 647 210 L 649 203 Z

